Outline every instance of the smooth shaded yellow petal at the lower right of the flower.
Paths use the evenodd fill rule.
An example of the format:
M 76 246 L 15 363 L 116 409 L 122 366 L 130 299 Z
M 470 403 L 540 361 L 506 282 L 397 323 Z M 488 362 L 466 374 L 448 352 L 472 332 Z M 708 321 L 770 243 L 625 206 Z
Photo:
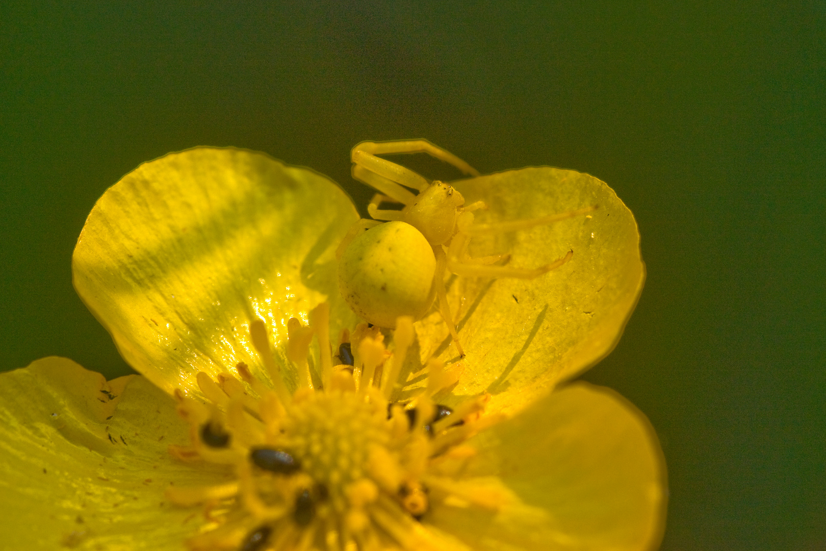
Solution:
M 436 501 L 429 519 L 473 549 L 645 551 L 662 539 L 662 450 L 616 392 L 573 383 L 468 442 L 479 453 L 457 482 L 463 500 Z M 498 508 L 463 506 L 474 492 Z

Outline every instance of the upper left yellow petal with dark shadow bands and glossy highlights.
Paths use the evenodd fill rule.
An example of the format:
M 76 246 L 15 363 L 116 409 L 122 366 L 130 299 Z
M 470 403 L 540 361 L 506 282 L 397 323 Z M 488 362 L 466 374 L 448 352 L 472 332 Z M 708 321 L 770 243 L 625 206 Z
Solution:
M 256 317 L 277 345 L 291 317 L 306 323 L 327 297 L 332 334 L 354 325 L 335 248 L 357 219 L 335 183 L 265 154 L 168 154 L 97 202 L 74 250 L 74 286 L 126 362 L 168 392 L 199 394 L 199 371 L 214 378 L 243 361 L 267 377 L 249 340 Z

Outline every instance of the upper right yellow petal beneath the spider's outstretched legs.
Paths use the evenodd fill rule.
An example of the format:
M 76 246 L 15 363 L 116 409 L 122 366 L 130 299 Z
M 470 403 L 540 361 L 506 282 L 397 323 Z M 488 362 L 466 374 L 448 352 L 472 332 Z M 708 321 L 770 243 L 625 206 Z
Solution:
M 645 279 L 637 224 L 604 182 L 573 170 L 511 170 L 455 185 L 466 203 L 483 200 L 490 207 L 475 213 L 480 223 L 598 206 L 551 226 L 472 240 L 472 256 L 510 253 L 508 265 L 518 268 L 550 264 L 572 250 L 572 259 L 560 268 L 527 280 L 449 281 L 467 352 L 467 368 L 453 393 L 491 392 L 488 411 L 513 412 L 590 368 L 619 341 Z M 420 340 L 433 341 L 422 356 L 435 351 L 446 363 L 455 361 L 439 316 L 419 325 Z

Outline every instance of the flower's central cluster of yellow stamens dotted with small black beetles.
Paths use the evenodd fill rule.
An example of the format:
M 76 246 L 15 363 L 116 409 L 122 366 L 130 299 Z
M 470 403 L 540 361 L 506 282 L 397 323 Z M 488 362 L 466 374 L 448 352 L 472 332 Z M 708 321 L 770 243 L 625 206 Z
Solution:
M 250 335 L 273 388 L 239 363 L 246 385 L 230 373 L 217 382 L 198 373 L 209 402 L 176 393 L 192 445 L 170 446 L 170 453 L 222 463 L 236 475 L 236 482 L 217 487 L 169 488 L 167 497 L 178 505 L 206 504 L 211 525 L 188 540 L 192 549 L 433 549 L 427 531 L 417 528 L 430 499 L 474 500 L 433 466 L 452 455 L 467 457 L 467 447 L 458 444 L 481 427 L 487 395 L 456 411 L 434 404 L 434 394 L 456 382 L 462 366 L 445 368 L 432 359 L 425 388 L 406 403 L 393 403 L 413 340 L 411 319 L 399 318 L 392 353 L 377 328 L 359 325 L 352 340 L 345 331 L 336 356 L 345 363 L 334 365 L 327 307 L 311 312 L 310 327 L 295 319 L 287 325 L 287 358 L 299 373 L 296 392 L 287 392 L 263 322 L 253 321 Z M 322 354 L 319 389 L 307 362 L 313 333 Z

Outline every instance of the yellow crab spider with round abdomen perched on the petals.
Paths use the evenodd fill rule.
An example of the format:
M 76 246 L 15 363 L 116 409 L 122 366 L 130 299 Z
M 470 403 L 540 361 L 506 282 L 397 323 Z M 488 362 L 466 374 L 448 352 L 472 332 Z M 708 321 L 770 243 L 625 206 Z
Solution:
M 474 224 L 473 211 L 487 208 L 484 202 L 465 205 L 462 194 L 448 183 L 429 182 L 411 169 L 377 156 L 402 153 L 427 153 L 468 176 L 479 176 L 468 163 L 427 140 L 363 141 L 356 145 L 352 151 L 353 177 L 379 193 L 368 205 L 373 220 L 356 222 L 339 245 L 339 289 L 358 316 L 387 328 L 395 328 L 399 316 L 420 319 L 438 298 L 439 312 L 453 343 L 464 355 L 444 287 L 445 272 L 530 279 L 562 266 L 573 254 L 568 251 L 563 258 L 539 268 L 491 266 L 507 261 L 510 254 L 471 258 L 468 244 L 472 237 L 551 224 L 596 206 L 531 220 Z M 382 210 L 382 202 L 401 203 L 404 207 L 401 211 Z

